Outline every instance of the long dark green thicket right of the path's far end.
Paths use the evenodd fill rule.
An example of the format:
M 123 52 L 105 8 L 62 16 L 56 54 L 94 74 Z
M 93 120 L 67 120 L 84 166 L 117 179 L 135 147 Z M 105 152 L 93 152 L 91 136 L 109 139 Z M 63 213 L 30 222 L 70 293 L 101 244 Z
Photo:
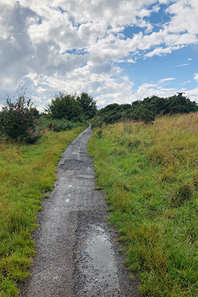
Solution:
M 159 98 L 152 96 L 137 100 L 132 104 L 109 104 L 100 109 L 93 120 L 92 126 L 102 126 L 102 124 L 114 124 L 119 120 L 131 118 L 141 119 L 145 124 L 153 122 L 158 114 L 189 113 L 198 111 L 196 102 L 190 101 L 182 93 L 169 98 Z

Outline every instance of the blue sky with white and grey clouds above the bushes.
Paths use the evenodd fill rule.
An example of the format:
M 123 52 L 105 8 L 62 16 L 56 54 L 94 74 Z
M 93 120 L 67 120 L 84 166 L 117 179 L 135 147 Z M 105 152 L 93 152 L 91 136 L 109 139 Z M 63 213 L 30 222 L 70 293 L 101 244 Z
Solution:
M 41 112 L 59 92 L 198 102 L 198 1 L 0 0 L 0 109 L 22 88 Z

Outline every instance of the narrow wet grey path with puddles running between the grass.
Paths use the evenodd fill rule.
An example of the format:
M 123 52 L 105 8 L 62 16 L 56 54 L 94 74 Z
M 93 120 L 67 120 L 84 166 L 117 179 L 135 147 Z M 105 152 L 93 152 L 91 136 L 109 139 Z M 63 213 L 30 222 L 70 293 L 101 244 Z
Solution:
M 109 234 L 104 194 L 94 190 L 91 134 L 87 128 L 63 153 L 54 191 L 39 214 L 38 254 L 32 276 L 21 284 L 23 297 L 139 296 Z

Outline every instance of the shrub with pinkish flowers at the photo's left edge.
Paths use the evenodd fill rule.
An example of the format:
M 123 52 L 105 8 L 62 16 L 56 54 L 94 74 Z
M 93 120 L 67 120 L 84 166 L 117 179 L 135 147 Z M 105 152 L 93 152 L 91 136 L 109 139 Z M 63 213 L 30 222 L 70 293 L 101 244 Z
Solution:
M 25 93 L 19 94 L 14 103 L 8 97 L 0 114 L 0 133 L 16 142 L 32 144 L 45 133 L 45 129 L 41 131 L 41 127 L 36 127 L 36 115 L 39 111 L 32 107 L 31 99 L 26 102 Z

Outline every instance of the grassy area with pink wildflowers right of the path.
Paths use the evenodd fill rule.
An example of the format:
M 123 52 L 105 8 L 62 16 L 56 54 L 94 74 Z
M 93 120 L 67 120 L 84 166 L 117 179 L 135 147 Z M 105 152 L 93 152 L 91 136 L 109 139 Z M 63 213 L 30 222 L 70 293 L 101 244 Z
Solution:
M 198 296 L 197 129 L 197 115 L 175 115 L 103 127 L 89 140 L 110 220 L 146 296 Z

